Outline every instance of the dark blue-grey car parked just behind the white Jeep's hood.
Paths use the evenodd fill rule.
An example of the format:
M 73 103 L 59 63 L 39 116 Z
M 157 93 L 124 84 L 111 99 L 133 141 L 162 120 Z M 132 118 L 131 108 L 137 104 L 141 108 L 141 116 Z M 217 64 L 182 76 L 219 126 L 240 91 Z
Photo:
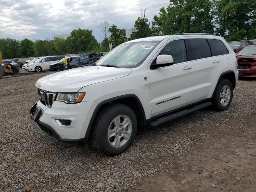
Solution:
M 96 62 L 98 59 L 100 59 L 101 56 L 102 56 L 102 53 L 97 53 L 97 52 L 82 55 L 76 60 L 74 60 L 73 62 L 70 62 L 67 65 L 67 69 L 74 69 L 77 67 L 91 65 L 94 62 Z

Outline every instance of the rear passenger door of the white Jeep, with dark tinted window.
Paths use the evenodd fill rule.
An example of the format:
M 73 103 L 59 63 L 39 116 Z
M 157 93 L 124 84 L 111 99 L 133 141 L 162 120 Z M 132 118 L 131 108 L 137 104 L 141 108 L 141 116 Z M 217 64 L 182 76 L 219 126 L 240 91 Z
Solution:
M 223 44 L 220 41 L 221 44 Z M 194 64 L 194 102 L 211 98 L 220 74 L 223 72 L 223 62 L 226 58 L 214 54 L 219 44 L 212 45 L 212 40 L 206 38 L 188 39 L 191 59 Z M 215 52 L 214 52 L 215 53 Z

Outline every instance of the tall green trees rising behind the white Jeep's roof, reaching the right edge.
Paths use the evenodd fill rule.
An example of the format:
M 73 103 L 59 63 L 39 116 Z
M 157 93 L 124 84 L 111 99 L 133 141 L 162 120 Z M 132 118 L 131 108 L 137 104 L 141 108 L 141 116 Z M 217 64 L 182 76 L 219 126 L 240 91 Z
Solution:
M 117 46 L 128 40 L 176 33 L 211 33 L 227 41 L 256 39 L 255 0 L 170 0 L 160 8 L 159 16 L 150 22 L 142 12 L 135 21 L 130 38 L 125 30 L 112 25 L 110 44 Z

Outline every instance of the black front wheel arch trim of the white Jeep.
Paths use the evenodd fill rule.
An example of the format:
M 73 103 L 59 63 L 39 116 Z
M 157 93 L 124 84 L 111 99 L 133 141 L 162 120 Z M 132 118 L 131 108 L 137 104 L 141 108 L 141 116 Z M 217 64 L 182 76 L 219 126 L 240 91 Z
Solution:
M 100 109 L 102 109 L 104 106 L 107 106 L 112 103 L 122 103 L 122 104 L 129 106 L 130 108 L 132 108 L 132 110 L 134 111 L 134 113 L 137 117 L 138 125 L 144 126 L 146 124 L 146 116 L 145 116 L 144 108 L 142 106 L 142 103 L 140 102 L 140 99 L 135 94 L 126 94 L 126 95 L 117 96 L 114 98 L 109 98 L 107 100 L 100 102 L 96 106 L 96 108 L 92 114 L 92 117 L 90 119 L 88 128 L 86 130 L 86 134 L 84 137 L 85 140 L 88 140 L 88 138 L 90 136 L 90 132 L 92 130 L 94 120 L 96 118 L 96 115 L 100 111 Z

